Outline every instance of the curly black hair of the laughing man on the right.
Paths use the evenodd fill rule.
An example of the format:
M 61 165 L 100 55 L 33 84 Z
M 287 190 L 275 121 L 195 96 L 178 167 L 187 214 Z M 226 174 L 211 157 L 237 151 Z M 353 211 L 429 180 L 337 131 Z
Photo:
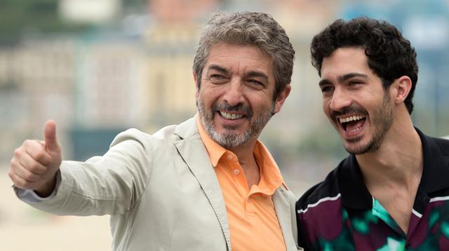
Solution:
M 382 79 L 384 90 L 395 79 L 410 77 L 412 87 L 404 102 L 411 114 L 418 73 L 416 52 L 410 41 L 394 25 L 366 17 L 354 18 L 348 22 L 336 20 L 312 39 L 311 64 L 321 76 L 323 57 L 330 56 L 337 48 L 358 46 L 365 50 L 368 66 Z

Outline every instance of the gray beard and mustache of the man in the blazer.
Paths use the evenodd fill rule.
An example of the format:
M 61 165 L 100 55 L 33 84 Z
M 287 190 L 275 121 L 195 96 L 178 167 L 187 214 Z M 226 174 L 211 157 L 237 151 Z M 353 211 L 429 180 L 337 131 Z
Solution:
M 203 124 L 204 130 L 206 130 L 210 138 L 217 142 L 217 144 L 220 144 L 220 146 L 225 147 L 225 149 L 243 147 L 248 144 L 248 142 L 257 139 L 264 126 L 268 123 L 269 119 L 272 118 L 272 115 L 274 114 L 274 102 L 272 102 L 272 105 L 269 107 L 269 109 L 262 109 L 262 114 L 260 114 L 256 118 L 253 116 L 253 112 L 251 111 L 250 107 L 243 107 L 242 104 L 230 106 L 229 104 L 214 103 L 211 109 L 206 109 L 206 105 L 201 101 L 201 98 L 198 97 L 198 100 L 196 101 L 196 107 L 198 108 L 199 116 L 201 118 L 201 123 Z M 246 129 L 245 133 L 236 133 L 236 127 L 234 126 L 225 126 L 225 129 L 227 130 L 225 133 L 215 132 L 213 125 L 213 116 L 218 110 L 245 111 L 245 113 L 248 114 L 247 119 L 249 122 L 249 126 Z

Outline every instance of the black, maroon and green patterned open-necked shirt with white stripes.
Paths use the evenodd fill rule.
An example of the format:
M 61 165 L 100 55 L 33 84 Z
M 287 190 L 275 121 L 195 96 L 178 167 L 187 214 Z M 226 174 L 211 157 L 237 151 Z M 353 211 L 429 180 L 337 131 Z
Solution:
M 363 183 L 350 155 L 296 203 L 305 250 L 449 250 L 449 140 L 420 135 L 423 171 L 407 233 Z

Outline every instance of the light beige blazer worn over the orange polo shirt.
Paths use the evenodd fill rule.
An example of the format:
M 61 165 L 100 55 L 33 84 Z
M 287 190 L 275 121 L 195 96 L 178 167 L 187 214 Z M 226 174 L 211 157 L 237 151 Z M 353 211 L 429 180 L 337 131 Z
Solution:
M 281 187 L 272 199 L 287 250 L 297 250 L 295 196 Z M 225 201 L 195 118 L 154 135 L 126 130 L 104 156 L 63 161 L 56 195 L 29 204 L 58 215 L 111 215 L 113 250 L 231 250 Z

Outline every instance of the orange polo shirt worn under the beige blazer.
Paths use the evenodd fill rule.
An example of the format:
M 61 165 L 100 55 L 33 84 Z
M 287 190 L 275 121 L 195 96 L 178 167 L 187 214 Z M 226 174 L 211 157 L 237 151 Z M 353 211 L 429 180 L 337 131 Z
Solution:
M 257 140 L 253 154 L 260 182 L 248 189 L 236 155 L 210 139 L 198 114 L 196 123 L 225 198 L 232 250 L 286 250 L 272 201 L 283 179 L 267 148 Z

